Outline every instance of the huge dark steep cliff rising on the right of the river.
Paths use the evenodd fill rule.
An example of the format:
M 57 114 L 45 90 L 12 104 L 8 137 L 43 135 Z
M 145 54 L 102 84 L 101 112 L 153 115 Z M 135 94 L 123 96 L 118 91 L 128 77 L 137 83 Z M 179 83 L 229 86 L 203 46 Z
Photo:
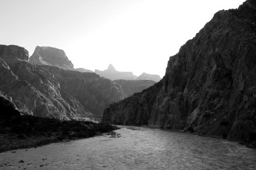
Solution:
M 170 57 L 160 82 L 110 105 L 103 120 L 255 140 L 255 18 L 253 0 L 216 13 Z

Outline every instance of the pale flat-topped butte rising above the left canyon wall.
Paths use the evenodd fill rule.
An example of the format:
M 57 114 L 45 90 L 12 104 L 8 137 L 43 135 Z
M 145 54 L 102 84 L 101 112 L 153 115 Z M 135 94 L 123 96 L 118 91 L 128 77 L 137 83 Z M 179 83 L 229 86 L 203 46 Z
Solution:
M 36 65 L 50 65 L 75 71 L 72 62 L 67 58 L 63 50 L 49 46 L 36 46 L 34 53 L 30 57 L 30 62 Z

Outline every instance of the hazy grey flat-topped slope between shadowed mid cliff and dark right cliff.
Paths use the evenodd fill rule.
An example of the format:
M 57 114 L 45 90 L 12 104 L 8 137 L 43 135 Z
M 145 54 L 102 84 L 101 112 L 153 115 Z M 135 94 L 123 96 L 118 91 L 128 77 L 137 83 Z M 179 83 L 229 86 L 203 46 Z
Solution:
M 156 83 L 151 80 L 115 80 L 114 82 L 121 85 L 125 98 L 130 97 L 134 93 L 139 93 Z

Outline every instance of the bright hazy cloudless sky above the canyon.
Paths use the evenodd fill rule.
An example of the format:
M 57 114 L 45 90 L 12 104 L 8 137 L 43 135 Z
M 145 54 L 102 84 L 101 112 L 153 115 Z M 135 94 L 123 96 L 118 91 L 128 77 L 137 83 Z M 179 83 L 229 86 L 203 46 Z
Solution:
M 0 0 L 0 44 L 65 50 L 75 68 L 165 73 L 169 56 L 245 0 Z

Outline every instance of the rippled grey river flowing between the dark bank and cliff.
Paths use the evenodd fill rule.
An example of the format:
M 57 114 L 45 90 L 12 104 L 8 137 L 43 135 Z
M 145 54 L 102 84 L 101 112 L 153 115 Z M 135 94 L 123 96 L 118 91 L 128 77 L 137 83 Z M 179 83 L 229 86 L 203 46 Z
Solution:
M 121 137 L 0 153 L 0 169 L 256 169 L 256 149 L 237 142 L 132 126 L 115 132 Z

